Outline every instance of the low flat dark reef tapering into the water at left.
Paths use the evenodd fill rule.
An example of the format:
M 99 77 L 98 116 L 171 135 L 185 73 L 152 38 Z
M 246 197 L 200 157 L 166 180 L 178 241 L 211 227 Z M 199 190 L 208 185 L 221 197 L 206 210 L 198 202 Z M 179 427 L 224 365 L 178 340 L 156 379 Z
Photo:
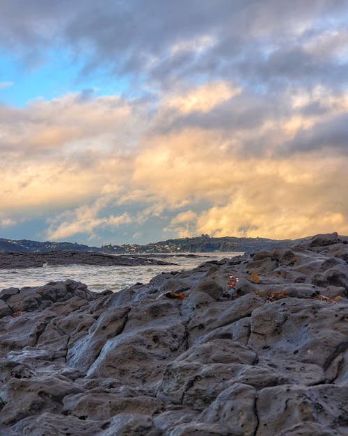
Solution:
M 137 266 L 137 265 L 175 265 L 171 262 L 148 256 L 107 255 L 106 253 L 81 251 L 50 252 L 0 252 L 0 269 L 33 268 L 48 265 L 100 265 L 100 266 Z

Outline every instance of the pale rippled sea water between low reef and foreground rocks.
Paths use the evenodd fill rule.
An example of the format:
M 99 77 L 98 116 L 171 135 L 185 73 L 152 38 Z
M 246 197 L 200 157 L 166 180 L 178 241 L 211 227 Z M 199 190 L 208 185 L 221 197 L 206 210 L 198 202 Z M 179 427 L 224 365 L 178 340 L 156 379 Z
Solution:
M 76 280 L 83 282 L 90 291 L 101 292 L 111 289 L 113 292 L 127 288 L 136 282 L 148 283 L 155 275 L 166 271 L 182 271 L 209 260 L 242 255 L 241 252 L 196 253 L 195 257 L 165 256 L 161 259 L 176 265 L 140 265 L 140 266 L 94 266 L 69 265 L 40 268 L 17 268 L 0 270 L 0 289 L 23 286 L 41 286 L 48 282 Z M 149 257 L 151 257 L 149 255 Z

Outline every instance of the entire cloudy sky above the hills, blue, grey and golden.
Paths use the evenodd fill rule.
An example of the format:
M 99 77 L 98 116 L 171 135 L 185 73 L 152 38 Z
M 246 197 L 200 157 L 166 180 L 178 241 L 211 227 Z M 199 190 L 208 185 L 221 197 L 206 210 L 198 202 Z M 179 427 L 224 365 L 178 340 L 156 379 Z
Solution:
M 0 237 L 348 234 L 348 0 L 1 0 Z

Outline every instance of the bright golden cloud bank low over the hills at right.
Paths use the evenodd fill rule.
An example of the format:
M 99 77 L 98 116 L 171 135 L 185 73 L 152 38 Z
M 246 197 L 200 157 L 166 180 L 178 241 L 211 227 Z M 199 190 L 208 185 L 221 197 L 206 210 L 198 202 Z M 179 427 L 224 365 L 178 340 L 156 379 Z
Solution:
M 175 229 L 180 236 L 274 238 L 329 229 L 348 232 L 347 157 L 310 150 L 283 159 L 241 159 L 218 147 L 214 154 L 204 154 L 200 153 L 202 148 L 207 150 L 203 136 L 196 134 L 195 142 L 195 132 L 186 132 L 187 137 L 190 134 L 191 142 L 182 143 L 183 138 L 177 137 L 180 147 L 163 141 L 166 150 L 161 152 L 159 147 L 146 154 L 157 154 L 159 159 L 151 163 L 145 159 L 138 167 L 138 181 L 142 178 L 144 186 L 156 191 L 163 202 L 175 207 L 175 202 L 191 197 L 191 206 L 198 200 L 212 204 L 195 214 L 179 214 L 167 229 Z

